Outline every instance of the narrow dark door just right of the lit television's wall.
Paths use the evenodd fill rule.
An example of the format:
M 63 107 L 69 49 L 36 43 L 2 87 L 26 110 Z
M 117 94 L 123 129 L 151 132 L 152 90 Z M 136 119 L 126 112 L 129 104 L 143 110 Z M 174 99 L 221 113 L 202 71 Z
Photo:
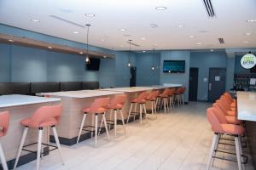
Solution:
M 189 69 L 189 101 L 197 101 L 198 68 Z

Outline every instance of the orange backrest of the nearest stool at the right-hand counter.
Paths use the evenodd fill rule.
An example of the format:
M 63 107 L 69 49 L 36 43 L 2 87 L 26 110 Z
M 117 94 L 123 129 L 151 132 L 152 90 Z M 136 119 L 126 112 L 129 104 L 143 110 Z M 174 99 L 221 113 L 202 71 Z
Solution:
M 207 109 L 207 119 L 208 122 L 212 125 L 212 131 L 214 133 L 224 133 L 224 130 L 221 127 L 221 123 L 218 120 L 218 116 L 215 114 L 218 110 L 214 107 Z

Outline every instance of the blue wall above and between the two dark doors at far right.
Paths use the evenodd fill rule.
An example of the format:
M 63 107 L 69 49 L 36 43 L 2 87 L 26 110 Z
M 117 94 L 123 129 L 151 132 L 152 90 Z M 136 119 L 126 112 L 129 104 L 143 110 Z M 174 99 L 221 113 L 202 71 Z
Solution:
M 207 100 L 208 96 L 208 82 L 203 79 L 209 76 L 209 68 L 227 66 L 227 56 L 224 51 L 220 52 L 191 52 L 190 67 L 198 67 L 198 100 Z M 231 66 L 231 65 L 230 65 Z M 228 69 L 229 71 L 232 70 Z M 230 83 L 229 83 L 230 84 Z

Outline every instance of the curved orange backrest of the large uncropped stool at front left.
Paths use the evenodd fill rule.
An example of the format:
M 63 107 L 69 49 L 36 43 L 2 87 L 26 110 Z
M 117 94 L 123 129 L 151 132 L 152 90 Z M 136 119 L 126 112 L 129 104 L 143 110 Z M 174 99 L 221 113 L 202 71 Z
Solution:
M 31 117 L 30 127 L 40 127 L 42 122 L 55 119 L 59 122 L 61 119 L 62 105 L 47 105 L 40 107 Z

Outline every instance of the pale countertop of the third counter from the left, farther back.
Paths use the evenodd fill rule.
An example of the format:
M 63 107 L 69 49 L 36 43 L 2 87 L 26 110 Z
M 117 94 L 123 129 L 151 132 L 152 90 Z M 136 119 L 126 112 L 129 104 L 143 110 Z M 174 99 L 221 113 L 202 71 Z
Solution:
M 110 92 L 124 92 L 124 93 L 133 93 L 133 92 L 142 92 L 147 90 L 153 90 L 154 87 L 127 87 L 127 88 L 104 88 L 100 89 L 101 91 L 110 91 Z

